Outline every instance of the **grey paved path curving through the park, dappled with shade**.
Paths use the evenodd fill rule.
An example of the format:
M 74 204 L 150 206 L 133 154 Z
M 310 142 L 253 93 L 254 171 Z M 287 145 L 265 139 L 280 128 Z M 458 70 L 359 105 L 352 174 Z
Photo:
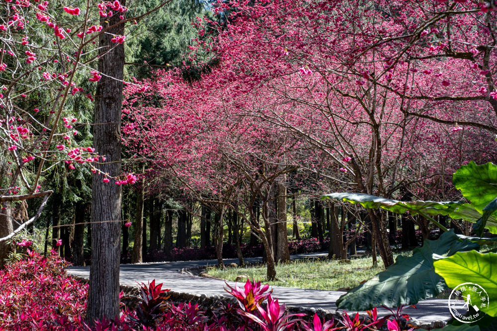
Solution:
M 292 255 L 292 259 L 305 257 L 317 257 L 324 254 Z M 260 262 L 260 258 L 248 258 L 247 263 Z M 225 259 L 225 264 L 237 263 L 238 259 Z M 174 292 L 189 294 L 205 294 L 206 296 L 226 295 L 223 289 L 223 280 L 199 277 L 181 273 L 185 268 L 201 267 L 205 265 L 217 265 L 216 260 L 186 261 L 186 262 L 162 262 L 138 265 L 121 265 L 120 281 L 123 285 L 137 286 L 139 283 L 147 283 L 153 279 L 156 283 L 164 283 L 166 288 Z M 73 266 L 69 269 L 71 274 L 88 278 L 89 267 Z M 230 283 L 231 285 L 231 283 Z M 335 311 L 335 301 L 344 292 L 307 290 L 300 288 L 273 286 L 273 294 L 281 302 L 289 307 L 323 308 Z M 433 321 L 448 321 L 450 313 L 447 300 L 428 299 L 416 304 L 417 309 L 408 308 L 406 313 L 420 322 L 429 323 Z

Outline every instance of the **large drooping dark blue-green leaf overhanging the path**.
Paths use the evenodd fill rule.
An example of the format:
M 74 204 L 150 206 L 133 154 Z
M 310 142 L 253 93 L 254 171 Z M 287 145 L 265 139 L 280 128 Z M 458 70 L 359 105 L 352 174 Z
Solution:
M 385 271 L 342 295 L 336 306 L 360 311 L 381 305 L 413 305 L 433 297 L 447 288 L 443 278 L 435 273 L 433 254 L 451 256 L 479 247 L 469 240 L 461 241 L 453 230 L 444 232 L 437 240 L 425 240 L 422 247 L 414 249 L 413 256 L 397 257 L 396 263 Z

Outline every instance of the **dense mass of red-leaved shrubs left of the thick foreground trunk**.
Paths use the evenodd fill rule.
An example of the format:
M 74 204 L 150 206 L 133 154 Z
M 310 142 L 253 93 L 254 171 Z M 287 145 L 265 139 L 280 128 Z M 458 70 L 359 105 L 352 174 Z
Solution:
M 0 272 L 0 330 L 57 329 L 84 319 L 88 286 L 66 273 L 55 251 L 27 258 Z M 63 330 L 63 329 L 61 329 Z

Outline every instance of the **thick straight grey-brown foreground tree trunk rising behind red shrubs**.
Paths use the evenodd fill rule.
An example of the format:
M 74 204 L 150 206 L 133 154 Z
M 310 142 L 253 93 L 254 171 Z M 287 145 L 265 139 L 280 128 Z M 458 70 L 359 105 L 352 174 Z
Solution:
M 125 0 L 121 4 L 125 5 Z M 121 107 L 123 95 L 124 45 L 111 41 L 124 35 L 124 24 L 117 24 L 119 15 L 102 17 L 105 29 L 115 25 L 99 37 L 98 71 L 102 78 L 95 94 L 95 126 L 93 147 L 105 155 L 106 163 L 96 165 L 101 173 L 115 177 L 121 170 Z M 102 182 L 100 172 L 93 174 L 91 221 L 92 255 L 86 322 L 113 319 L 119 315 L 119 261 L 121 253 L 121 185 Z

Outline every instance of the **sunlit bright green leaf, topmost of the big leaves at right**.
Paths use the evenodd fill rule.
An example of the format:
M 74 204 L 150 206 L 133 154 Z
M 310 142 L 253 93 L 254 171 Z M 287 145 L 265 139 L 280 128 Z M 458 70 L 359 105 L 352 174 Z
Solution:
M 452 182 L 463 197 L 483 213 L 483 208 L 497 197 L 497 165 L 492 162 L 476 165 L 471 161 L 457 169 Z

